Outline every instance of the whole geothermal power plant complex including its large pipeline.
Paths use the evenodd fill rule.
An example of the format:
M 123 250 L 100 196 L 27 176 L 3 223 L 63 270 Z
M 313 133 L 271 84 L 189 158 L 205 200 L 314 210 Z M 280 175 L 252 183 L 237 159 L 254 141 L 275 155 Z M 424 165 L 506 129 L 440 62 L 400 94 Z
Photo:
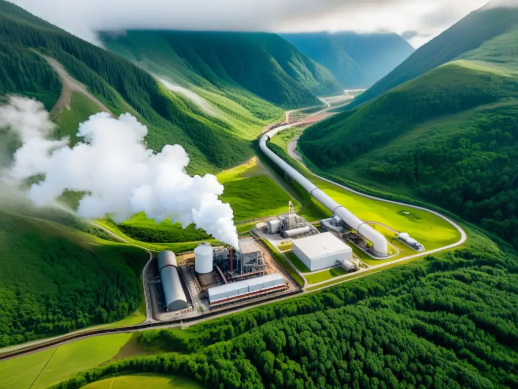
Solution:
M 178 258 L 171 251 L 160 252 L 151 281 L 156 286 L 153 294 L 159 311 L 155 318 L 192 317 L 207 311 L 237 309 L 300 291 L 304 285 L 299 285 L 285 263 L 276 259 L 280 253 L 271 252 L 272 246 L 289 247 L 290 255 L 301 262 L 307 274 L 332 268 L 341 268 L 341 274 L 346 274 L 365 268 L 365 263 L 353 253 L 354 247 L 373 259 L 399 254 L 383 234 L 268 149 L 271 136 L 286 127 L 291 126 L 264 134 L 259 147 L 333 216 L 310 223 L 294 211 L 290 201 L 286 213 L 257 223 L 249 237 L 238 240 L 237 247 L 201 243 Z M 416 252 L 425 250 L 405 232 L 396 233 L 394 238 Z

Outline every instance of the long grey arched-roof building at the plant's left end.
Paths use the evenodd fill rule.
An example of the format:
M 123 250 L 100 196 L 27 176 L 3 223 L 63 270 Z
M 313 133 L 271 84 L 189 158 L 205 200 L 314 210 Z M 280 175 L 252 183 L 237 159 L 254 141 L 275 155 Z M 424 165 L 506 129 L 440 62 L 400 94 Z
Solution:
M 169 250 L 161 251 L 158 255 L 160 281 L 164 289 L 165 307 L 168 311 L 187 308 L 187 299 L 178 274 L 178 263 L 175 253 Z

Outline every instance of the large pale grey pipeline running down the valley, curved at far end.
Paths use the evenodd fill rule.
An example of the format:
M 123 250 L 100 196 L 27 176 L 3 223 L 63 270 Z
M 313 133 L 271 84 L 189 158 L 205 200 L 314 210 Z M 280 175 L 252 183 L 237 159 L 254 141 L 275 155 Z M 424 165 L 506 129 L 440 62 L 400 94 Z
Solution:
M 309 179 L 304 177 L 302 174 L 297 172 L 292 168 L 289 164 L 282 160 L 275 152 L 271 151 L 266 142 L 271 139 L 272 136 L 277 134 L 278 132 L 285 130 L 286 128 L 293 127 L 293 124 L 289 124 L 286 126 L 277 127 L 274 130 L 271 130 L 264 134 L 259 141 L 259 148 L 264 154 L 272 160 L 279 168 L 281 168 L 287 175 L 293 178 L 300 186 L 302 186 L 305 190 L 310 193 L 310 195 L 322 205 L 324 205 L 329 211 L 333 212 L 340 219 L 342 219 L 348 226 L 353 228 L 359 235 L 372 243 L 372 250 L 378 257 L 386 257 L 388 256 L 387 249 L 387 240 L 385 237 L 370 227 L 368 224 L 365 224 L 362 220 L 357 218 L 343 205 L 338 204 L 335 200 L 327 196 L 320 188 L 310 182 Z M 362 226 L 362 230 L 359 231 L 359 227 Z

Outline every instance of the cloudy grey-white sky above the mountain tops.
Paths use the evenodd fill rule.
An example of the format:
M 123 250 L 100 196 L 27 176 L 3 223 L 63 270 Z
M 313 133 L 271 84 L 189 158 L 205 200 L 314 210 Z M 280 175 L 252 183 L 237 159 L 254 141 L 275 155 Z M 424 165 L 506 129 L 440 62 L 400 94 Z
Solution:
M 10 1 L 93 43 L 94 31 L 99 30 L 355 31 L 395 32 L 415 48 L 487 3 L 487 0 Z

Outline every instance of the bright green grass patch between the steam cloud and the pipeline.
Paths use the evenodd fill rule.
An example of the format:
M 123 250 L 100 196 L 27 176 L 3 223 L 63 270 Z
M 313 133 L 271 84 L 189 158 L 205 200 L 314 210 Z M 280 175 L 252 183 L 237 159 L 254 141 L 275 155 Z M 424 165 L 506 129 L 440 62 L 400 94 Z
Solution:
M 224 186 L 220 199 L 232 206 L 236 221 L 286 213 L 290 200 L 295 212 L 300 210 L 300 203 L 268 175 L 257 158 L 217 177 Z

